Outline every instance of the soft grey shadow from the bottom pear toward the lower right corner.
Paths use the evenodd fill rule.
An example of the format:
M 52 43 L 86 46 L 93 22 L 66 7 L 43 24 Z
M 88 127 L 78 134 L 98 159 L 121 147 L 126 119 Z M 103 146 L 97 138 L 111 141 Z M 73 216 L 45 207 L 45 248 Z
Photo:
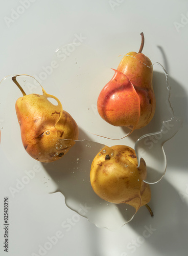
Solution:
M 138 241 L 144 241 L 153 247 L 158 255 L 185 255 L 188 249 L 185 236 L 188 232 L 188 194 L 184 191 L 183 194 L 186 195 L 183 198 L 181 191 L 176 190 L 165 177 L 150 187 L 152 198 L 149 205 L 154 217 L 151 217 L 143 206 L 127 225 L 137 232 L 138 237 L 144 237 L 142 240 L 137 239 L 138 246 Z M 123 228 L 126 229 L 126 226 Z

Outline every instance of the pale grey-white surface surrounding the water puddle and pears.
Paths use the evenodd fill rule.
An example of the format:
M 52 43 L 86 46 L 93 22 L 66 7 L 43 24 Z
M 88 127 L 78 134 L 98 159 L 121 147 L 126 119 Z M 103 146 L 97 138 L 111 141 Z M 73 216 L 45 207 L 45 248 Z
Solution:
M 165 177 L 159 183 L 151 185 L 150 206 L 154 211 L 154 218 L 148 215 L 145 208 L 141 208 L 129 224 L 114 232 L 100 229 L 70 210 L 65 205 L 61 193 L 48 194 L 45 189 L 41 189 L 41 193 L 35 193 L 36 190 L 40 191 L 39 187 L 45 182 L 41 173 L 13 197 L 10 187 L 16 187 L 17 179 L 21 180 L 30 165 L 20 164 L 19 168 L 19 164 L 9 161 L 7 153 L 0 148 L 0 254 L 186 255 L 187 1 L 36 0 L 29 3 L 27 8 L 20 8 L 23 6 L 21 1 L 1 0 L 1 79 L 17 73 L 40 76 L 43 67 L 51 65 L 55 50 L 72 43 L 75 34 L 81 34 L 85 38 L 84 44 L 95 50 L 105 65 L 112 68 L 118 64 L 113 63 L 114 56 L 138 50 L 139 34 L 144 32 L 146 41 L 143 53 L 149 56 L 152 62 L 160 62 L 167 70 L 172 86 L 171 103 L 175 115 L 183 117 L 183 128 L 165 144 L 168 163 Z M 15 12 L 22 13 L 16 16 Z M 45 85 L 45 89 L 48 88 L 48 93 L 58 96 L 59 91 L 54 85 L 53 74 L 46 76 L 42 85 Z M 62 87 L 65 87 L 66 92 L 63 81 Z M 71 95 L 67 97 L 73 100 Z M 75 113 L 78 108 L 76 106 Z M 14 114 L 8 113 L 8 118 L 13 118 Z M 82 126 L 84 127 L 84 124 Z M 17 131 L 19 132 L 15 128 L 15 132 Z M 81 139 L 85 138 L 84 136 L 104 144 L 117 144 L 115 141 L 96 138 L 87 133 L 82 133 Z M 15 138 L 19 138 L 19 135 L 15 135 Z M 123 140 L 121 144 L 128 142 L 132 143 L 129 145 L 133 147 L 133 141 L 128 139 Z M 25 162 L 25 159 L 22 159 L 22 162 Z M 3 248 L 3 200 L 7 196 L 10 211 L 8 253 L 4 252 Z M 72 219 L 72 224 L 67 225 L 69 219 Z M 152 227 L 151 233 L 145 231 L 149 227 Z M 49 238 L 57 235 L 59 231 L 63 237 L 59 238 L 52 248 L 40 250 L 41 246 L 48 246 Z M 148 234 L 145 241 L 140 237 L 144 234 Z

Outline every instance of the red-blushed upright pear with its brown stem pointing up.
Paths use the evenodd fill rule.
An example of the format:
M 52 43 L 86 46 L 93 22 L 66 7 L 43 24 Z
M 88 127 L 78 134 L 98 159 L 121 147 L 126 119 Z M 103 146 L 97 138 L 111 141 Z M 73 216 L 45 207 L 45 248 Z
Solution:
M 138 53 L 127 53 L 114 76 L 102 89 L 97 107 L 100 116 L 115 126 L 132 131 L 146 126 L 155 113 L 151 60 L 142 53 L 144 34 Z

